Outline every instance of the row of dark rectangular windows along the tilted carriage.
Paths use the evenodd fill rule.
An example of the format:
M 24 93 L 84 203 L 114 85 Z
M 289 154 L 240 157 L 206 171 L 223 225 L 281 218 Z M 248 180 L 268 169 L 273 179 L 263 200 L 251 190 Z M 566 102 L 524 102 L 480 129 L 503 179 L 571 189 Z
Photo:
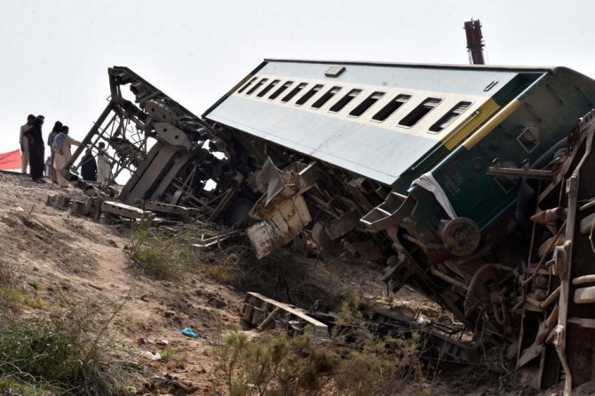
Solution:
M 267 94 L 270 93 L 268 99 L 274 100 L 281 97 L 282 103 L 287 103 L 291 99 L 294 99 L 300 92 L 304 91 L 307 83 L 298 83 L 293 89 L 288 91 L 291 85 L 293 85 L 293 81 L 287 81 L 285 83 L 281 83 L 281 80 L 273 80 L 269 83 L 268 78 L 261 78 L 258 83 L 252 85 L 254 82 L 258 80 L 258 77 L 252 78 L 248 83 L 246 83 L 242 88 L 238 91 L 238 93 L 242 93 L 245 91 L 246 95 L 251 95 L 252 93 L 258 91 L 260 88 L 263 88 L 261 91 L 258 91 L 256 97 L 263 98 Z M 250 88 L 250 89 L 249 89 Z M 305 91 L 305 93 L 296 100 L 296 106 L 304 105 L 308 100 L 310 100 L 315 94 L 319 91 L 322 91 L 324 88 L 323 84 L 315 84 L 312 88 Z M 324 106 L 330 99 L 333 99 L 338 95 L 340 91 L 342 91 L 342 87 L 333 86 L 328 91 L 325 91 L 319 99 L 316 99 L 313 104 L 312 108 L 319 109 Z M 284 96 L 282 96 L 285 94 Z M 338 113 L 340 112 L 345 106 L 347 106 L 353 99 L 357 98 L 361 94 L 360 89 L 353 89 L 345 93 L 343 97 L 337 100 L 333 106 L 329 108 L 330 113 Z M 352 111 L 349 112 L 349 115 L 352 117 L 359 117 L 363 115 L 370 107 L 374 106 L 374 104 L 385 97 L 385 92 L 382 91 L 375 91 L 371 93 L 367 98 L 363 99 L 359 105 L 353 108 Z M 409 99 L 411 99 L 411 95 L 403 95 L 399 94 L 394 97 L 390 102 L 385 104 L 380 110 L 377 111 L 375 115 L 372 115 L 372 120 L 382 123 L 388 117 L 393 115 L 395 111 L 399 109 L 403 104 L 405 104 Z M 426 98 L 422 103 L 417 105 L 412 111 L 409 112 L 408 115 L 405 115 L 399 125 L 405 127 L 411 127 L 415 125 L 419 120 L 424 118 L 425 115 L 430 113 L 435 107 L 437 107 L 442 99 L 440 98 Z M 462 115 L 464 111 L 471 106 L 471 102 L 469 101 L 461 101 L 456 104 L 455 107 L 452 107 L 447 114 L 440 117 L 436 123 L 432 124 L 430 127 L 430 131 L 433 133 L 438 133 L 444 130 L 450 123 L 455 121 L 456 117 Z

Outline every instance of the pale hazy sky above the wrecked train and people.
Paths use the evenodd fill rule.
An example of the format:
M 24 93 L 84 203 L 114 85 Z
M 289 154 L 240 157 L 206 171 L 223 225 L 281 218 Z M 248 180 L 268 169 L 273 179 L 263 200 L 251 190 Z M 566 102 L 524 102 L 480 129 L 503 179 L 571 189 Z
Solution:
M 265 58 L 468 63 L 480 19 L 488 63 L 595 77 L 595 2 L 567 0 L 0 0 L 0 153 L 27 115 L 83 139 L 107 67 L 131 67 L 196 115 Z

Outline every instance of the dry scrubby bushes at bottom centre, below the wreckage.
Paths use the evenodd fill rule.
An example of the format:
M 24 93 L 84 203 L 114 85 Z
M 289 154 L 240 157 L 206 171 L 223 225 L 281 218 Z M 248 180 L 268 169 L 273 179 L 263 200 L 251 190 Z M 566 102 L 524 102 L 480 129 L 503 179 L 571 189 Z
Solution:
M 420 338 L 380 339 L 360 303 L 345 303 L 326 343 L 284 334 L 250 340 L 232 331 L 215 346 L 217 370 L 233 396 L 429 394 L 418 358 Z

